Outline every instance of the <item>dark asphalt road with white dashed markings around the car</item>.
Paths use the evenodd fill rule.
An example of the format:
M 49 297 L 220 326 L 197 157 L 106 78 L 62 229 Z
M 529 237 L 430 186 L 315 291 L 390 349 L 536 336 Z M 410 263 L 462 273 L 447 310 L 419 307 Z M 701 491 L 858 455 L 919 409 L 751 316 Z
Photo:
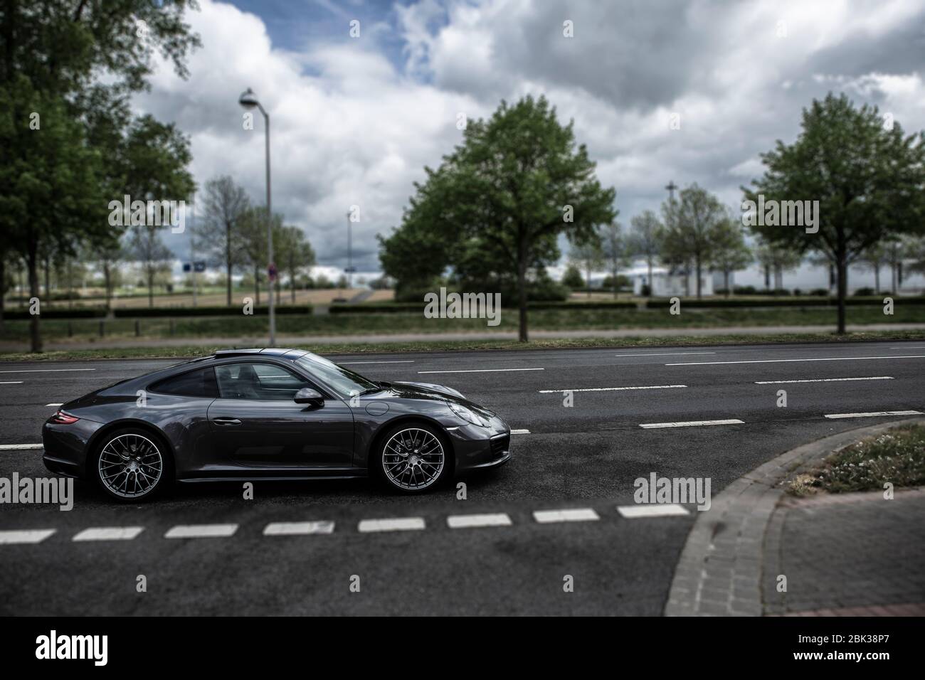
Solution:
M 464 501 L 455 488 L 407 499 L 367 481 L 264 482 L 251 501 L 240 484 L 197 484 L 115 506 L 78 483 L 70 512 L 0 505 L 0 531 L 56 530 L 39 543 L 0 544 L 0 613 L 659 614 L 697 511 L 623 516 L 618 506 L 633 504 L 636 477 L 709 477 L 715 496 L 801 443 L 893 417 L 826 414 L 925 412 L 925 341 L 330 358 L 373 379 L 460 389 L 528 433 L 513 436 L 511 464 L 463 480 Z M 47 404 L 166 363 L 0 364 L 0 477 L 47 476 L 40 449 L 3 448 L 38 443 L 56 410 Z M 819 382 L 758 384 L 785 380 Z M 627 387 L 655 389 L 611 389 Z M 780 389 L 786 407 L 777 405 Z M 575 390 L 573 405 L 555 390 Z M 743 423 L 641 427 L 730 419 Z M 546 524 L 533 515 L 562 509 L 592 509 L 598 519 Z M 510 525 L 448 525 L 481 513 Z M 424 528 L 358 526 L 410 517 Z M 277 522 L 334 528 L 265 536 Z M 173 526 L 198 524 L 233 525 L 233 534 L 165 538 Z M 142 531 L 72 539 L 99 526 Z M 139 575 L 146 592 L 136 589 Z M 566 576 L 573 592 L 563 590 Z

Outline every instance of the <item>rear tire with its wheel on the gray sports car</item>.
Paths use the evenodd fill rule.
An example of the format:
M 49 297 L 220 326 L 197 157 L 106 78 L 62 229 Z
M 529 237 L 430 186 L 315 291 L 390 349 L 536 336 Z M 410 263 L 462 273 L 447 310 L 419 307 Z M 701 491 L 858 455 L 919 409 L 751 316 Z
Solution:
M 157 461 L 159 474 L 155 474 Z M 124 465 L 121 471 L 119 464 Z M 100 440 L 89 461 L 88 473 L 110 499 L 121 503 L 145 502 L 173 480 L 173 457 L 161 437 L 141 427 L 123 427 L 106 433 Z M 114 475 L 117 477 L 113 478 Z

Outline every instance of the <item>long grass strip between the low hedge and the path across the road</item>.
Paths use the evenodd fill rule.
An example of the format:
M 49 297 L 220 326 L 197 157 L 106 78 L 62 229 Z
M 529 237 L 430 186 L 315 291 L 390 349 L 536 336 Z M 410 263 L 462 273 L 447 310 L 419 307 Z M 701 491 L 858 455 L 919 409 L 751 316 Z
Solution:
M 549 309 L 533 310 L 529 325 L 535 330 L 611 328 L 722 328 L 762 326 L 835 325 L 835 310 L 789 308 L 689 309 L 671 315 L 667 309 L 599 310 Z M 897 304 L 894 315 L 883 315 L 882 309 L 852 307 L 847 312 L 850 324 L 925 323 L 925 305 L 903 307 Z M 267 318 L 256 315 L 182 316 L 176 319 L 153 317 L 138 319 L 140 335 L 136 336 L 135 319 L 116 318 L 104 322 L 108 339 L 162 338 L 260 338 L 267 333 Z M 42 322 L 43 339 L 48 341 L 91 341 L 100 338 L 99 319 L 47 319 Z M 70 335 L 68 336 L 68 325 Z M 280 315 L 277 333 L 280 335 L 363 335 L 396 333 L 473 332 L 515 330 L 517 315 L 511 310 L 501 314 L 497 327 L 489 328 L 486 319 L 428 319 L 418 314 L 357 314 L 357 315 Z M 29 339 L 29 322 L 7 320 L 0 340 L 24 342 Z

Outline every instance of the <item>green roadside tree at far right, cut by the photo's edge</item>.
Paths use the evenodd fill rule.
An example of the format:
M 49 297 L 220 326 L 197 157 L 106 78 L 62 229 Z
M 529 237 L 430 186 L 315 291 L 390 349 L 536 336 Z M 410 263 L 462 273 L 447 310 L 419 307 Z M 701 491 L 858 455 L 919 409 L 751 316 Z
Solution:
M 746 200 L 818 200 L 818 225 L 755 226 L 769 241 L 822 253 L 833 264 L 838 332 L 845 332 L 847 270 L 871 245 L 925 225 L 925 133 L 883 125 L 876 106 L 857 108 L 830 93 L 803 110 L 792 144 L 761 155 L 764 176 L 743 187 Z M 818 231 L 813 231 L 818 229 Z

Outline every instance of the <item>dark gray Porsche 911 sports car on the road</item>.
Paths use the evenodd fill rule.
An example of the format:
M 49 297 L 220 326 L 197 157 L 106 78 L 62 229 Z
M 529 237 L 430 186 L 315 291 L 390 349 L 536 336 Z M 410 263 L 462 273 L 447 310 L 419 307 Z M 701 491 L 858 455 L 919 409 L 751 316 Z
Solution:
M 511 429 L 455 389 L 375 382 L 302 350 L 226 350 L 98 389 L 44 424 L 52 472 L 117 501 L 170 481 L 375 475 L 417 493 L 511 460 Z

